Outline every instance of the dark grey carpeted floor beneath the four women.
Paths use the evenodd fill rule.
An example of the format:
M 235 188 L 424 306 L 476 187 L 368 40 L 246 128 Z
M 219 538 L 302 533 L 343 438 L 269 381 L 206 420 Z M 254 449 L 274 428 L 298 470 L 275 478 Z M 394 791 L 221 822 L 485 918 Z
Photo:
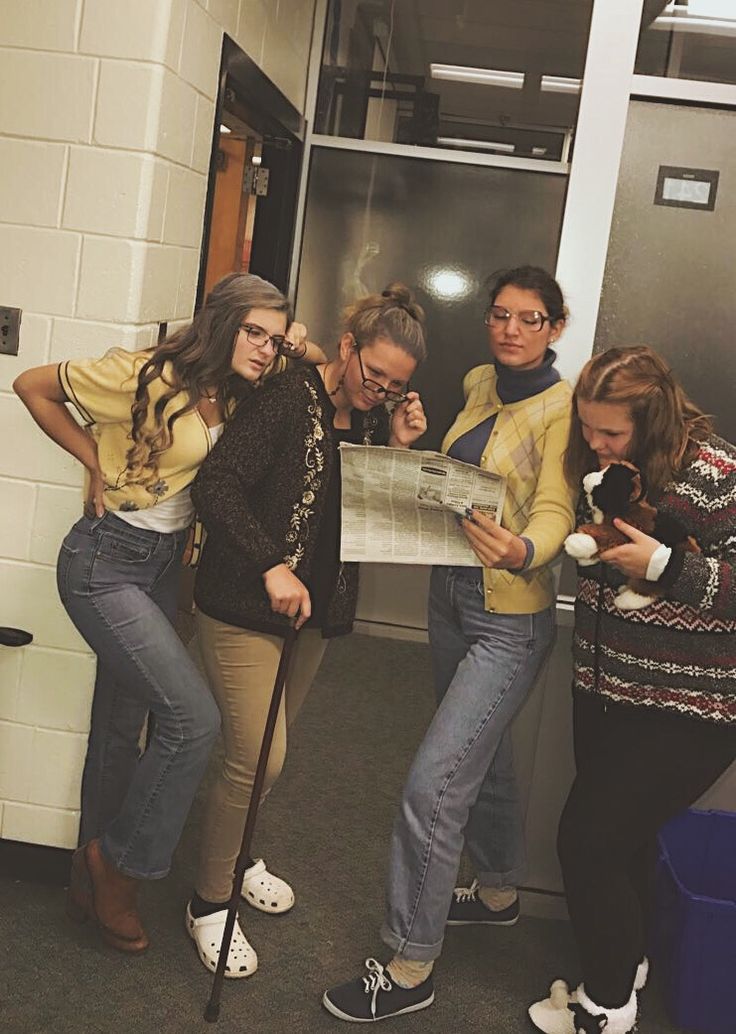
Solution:
M 126 959 L 64 915 L 63 891 L 28 872 L 0 878 L 2 1034 L 302 1034 L 345 1029 L 323 990 L 387 957 L 377 929 L 388 838 L 411 752 L 431 713 L 426 647 L 354 636 L 335 642 L 292 737 L 281 781 L 264 804 L 255 853 L 294 883 L 285 916 L 243 906 L 258 972 L 225 982 L 216 1027 L 203 1010 L 210 976 L 184 931 L 202 797 L 172 874 L 148 885 L 151 948 Z M 19 878 L 20 876 L 24 878 Z M 514 927 L 452 929 L 435 969 L 436 1001 L 387 1030 L 530 1034 L 526 1006 L 550 980 L 578 976 L 568 923 L 522 917 Z M 382 1028 L 381 1028 L 382 1030 Z M 675 1034 L 656 981 L 640 1034 Z

